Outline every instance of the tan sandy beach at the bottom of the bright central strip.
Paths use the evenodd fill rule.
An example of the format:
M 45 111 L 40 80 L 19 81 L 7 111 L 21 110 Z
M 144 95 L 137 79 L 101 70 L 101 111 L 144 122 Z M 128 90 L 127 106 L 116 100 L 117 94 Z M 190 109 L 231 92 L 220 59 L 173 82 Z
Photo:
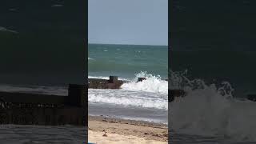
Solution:
M 98 144 L 168 143 L 168 128 L 160 123 L 89 116 L 88 126 L 89 142 Z

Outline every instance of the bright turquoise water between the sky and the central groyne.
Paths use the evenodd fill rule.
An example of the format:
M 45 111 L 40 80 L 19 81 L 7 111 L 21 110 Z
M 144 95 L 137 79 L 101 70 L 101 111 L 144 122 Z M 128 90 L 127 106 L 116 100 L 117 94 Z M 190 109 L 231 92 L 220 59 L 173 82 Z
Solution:
M 167 46 L 136 46 L 89 44 L 89 76 L 134 78 L 141 71 L 147 74 L 168 75 Z

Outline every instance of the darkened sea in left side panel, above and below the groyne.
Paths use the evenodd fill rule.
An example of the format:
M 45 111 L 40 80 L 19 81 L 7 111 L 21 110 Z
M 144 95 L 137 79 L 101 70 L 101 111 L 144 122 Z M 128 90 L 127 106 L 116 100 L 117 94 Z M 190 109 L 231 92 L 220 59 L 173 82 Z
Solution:
M 0 91 L 66 96 L 86 83 L 86 2 L 2 0 Z M 0 143 L 82 143 L 85 126 L 0 125 Z

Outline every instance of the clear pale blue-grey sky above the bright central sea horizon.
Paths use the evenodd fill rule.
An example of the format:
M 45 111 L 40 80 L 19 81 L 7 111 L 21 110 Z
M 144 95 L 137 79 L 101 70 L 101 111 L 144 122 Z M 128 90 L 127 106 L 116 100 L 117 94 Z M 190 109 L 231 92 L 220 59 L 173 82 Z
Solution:
M 168 0 L 89 0 L 89 43 L 168 45 Z

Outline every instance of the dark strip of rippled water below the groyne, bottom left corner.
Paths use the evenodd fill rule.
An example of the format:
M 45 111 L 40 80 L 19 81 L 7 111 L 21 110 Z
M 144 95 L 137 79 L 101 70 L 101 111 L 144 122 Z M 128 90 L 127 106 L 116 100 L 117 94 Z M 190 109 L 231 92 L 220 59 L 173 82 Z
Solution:
M 86 126 L 0 125 L 0 143 L 86 143 Z

